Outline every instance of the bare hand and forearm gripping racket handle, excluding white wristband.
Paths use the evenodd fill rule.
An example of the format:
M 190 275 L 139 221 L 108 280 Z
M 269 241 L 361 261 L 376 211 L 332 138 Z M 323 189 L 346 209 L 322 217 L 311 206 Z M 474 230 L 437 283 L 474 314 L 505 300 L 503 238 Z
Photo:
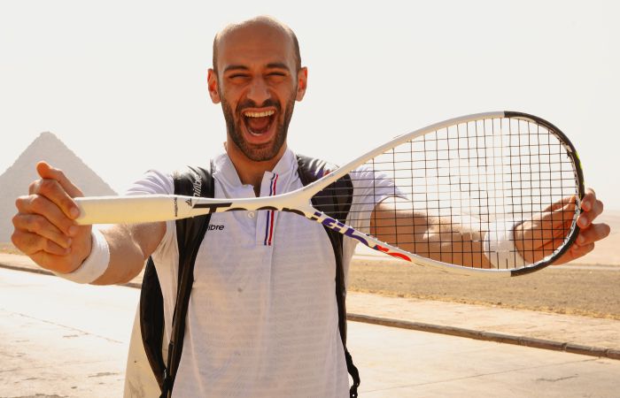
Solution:
M 81 190 L 46 163 L 39 163 L 36 170 L 41 179 L 30 185 L 29 195 L 16 201 L 12 242 L 43 268 L 74 272 L 91 251 L 91 226 L 74 222 L 79 211 L 72 198 L 82 196 Z M 93 283 L 109 285 L 136 277 L 166 233 L 166 224 L 110 226 L 102 233 L 110 247 L 110 263 Z

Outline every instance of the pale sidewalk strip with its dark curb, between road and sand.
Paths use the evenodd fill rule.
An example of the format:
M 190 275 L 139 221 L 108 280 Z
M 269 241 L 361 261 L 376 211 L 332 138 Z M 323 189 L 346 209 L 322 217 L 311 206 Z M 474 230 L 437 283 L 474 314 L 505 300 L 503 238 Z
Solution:
M 50 273 L 27 256 L 0 253 L 0 267 Z M 128 286 L 139 287 L 141 277 Z M 620 321 L 349 293 L 349 319 L 484 341 L 620 359 Z

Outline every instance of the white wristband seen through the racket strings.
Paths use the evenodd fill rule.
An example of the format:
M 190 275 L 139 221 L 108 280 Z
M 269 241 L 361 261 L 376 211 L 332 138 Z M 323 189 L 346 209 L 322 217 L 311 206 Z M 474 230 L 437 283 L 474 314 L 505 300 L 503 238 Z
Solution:
M 516 268 L 527 264 L 515 247 L 515 226 L 519 224 L 512 219 L 490 224 L 489 232 L 484 235 L 484 256 L 493 268 Z

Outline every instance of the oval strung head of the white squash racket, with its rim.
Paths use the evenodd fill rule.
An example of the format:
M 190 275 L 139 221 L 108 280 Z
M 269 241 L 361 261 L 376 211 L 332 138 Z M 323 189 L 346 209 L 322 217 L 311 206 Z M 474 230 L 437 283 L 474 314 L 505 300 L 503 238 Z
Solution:
M 577 151 L 559 128 L 531 114 L 481 113 L 401 135 L 332 172 L 318 181 L 314 189 L 322 184 L 321 189 L 329 191 L 333 186 L 325 185 L 345 173 L 358 185 L 356 191 L 360 186 L 365 187 L 353 196 L 346 223 L 381 242 L 381 251 L 390 249 L 399 253 L 400 258 L 408 254 L 417 264 L 451 272 L 522 275 L 552 264 L 570 248 L 579 232 L 577 217 L 585 188 Z M 377 180 L 393 184 L 377 186 Z M 368 181 L 374 186 L 369 188 Z M 368 197 L 372 199 L 363 202 L 362 198 Z M 392 227 L 401 232 L 403 227 L 414 230 L 412 241 L 395 240 L 376 226 L 371 230 L 377 219 L 376 212 L 371 214 L 368 209 L 374 209 L 379 203 L 383 205 L 385 201 L 396 202 L 394 198 L 408 203 L 409 210 L 420 215 L 413 224 L 426 220 L 425 225 L 407 226 L 397 215 L 393 217 Z M 553 210 L 554 203 L 565 204 L 562 207 L 566 209 L 549 210 Z M 322 211 L 320 207 L 317 210 Z M 539 235 L 523 234 L 520 240 L 515 238 L 515 226 L 546 213 L 550 218 L 540 221 L 543 224 Z M 560 229 L 557 217 L 554 219 L 557 215 L 561 217 Z M 545 219 L 550 220 L 549 226 L 543 222 Z M 440 241 L 432 245 L 424 238 L 430 230 L 445 230 L 453 224 L 460 224 L 473 233 L 470 242 L 462 238 L 446 241 L 450 233 L 438 233 Z M 488 258 L 484 253 L 484 239 L 487 234 L 497 233 L 497 225 L 502 224 L 505 230 L 498 235 L 512 241 L 512 249 L 500 260 L 518 255 L 523 261 L 499 261 L 493 268 L 484 268 L 489 265 L 484 260 Z M 537 246 L 547 238 L 551 239 L 551 247 Z M 466 243 L 469 247 L 465 247 Z M 458 253 L 442 251 L 442 247 L 453 250 L 454 246 L 460 248 Z

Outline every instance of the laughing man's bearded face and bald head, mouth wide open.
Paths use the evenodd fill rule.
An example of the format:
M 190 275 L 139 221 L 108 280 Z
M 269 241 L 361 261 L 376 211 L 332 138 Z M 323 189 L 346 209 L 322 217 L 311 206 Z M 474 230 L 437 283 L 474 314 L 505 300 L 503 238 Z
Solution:
M 289 35 L 264 25 L 237 29 L 221 38 L 217 63 L 209 92 L 221 102 L 230 141 L 252 161 L 282 155 L 295 100 L 306 89 Z

